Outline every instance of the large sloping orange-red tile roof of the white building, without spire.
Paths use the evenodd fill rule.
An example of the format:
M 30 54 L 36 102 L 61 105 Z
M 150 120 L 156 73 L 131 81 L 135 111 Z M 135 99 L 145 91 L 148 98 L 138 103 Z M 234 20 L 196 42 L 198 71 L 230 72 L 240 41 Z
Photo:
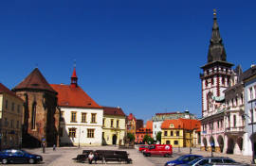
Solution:
M 101 108 L 82 88 L 70 85 L 51 84 L 58 92 L 58 105 L 72 108 Z

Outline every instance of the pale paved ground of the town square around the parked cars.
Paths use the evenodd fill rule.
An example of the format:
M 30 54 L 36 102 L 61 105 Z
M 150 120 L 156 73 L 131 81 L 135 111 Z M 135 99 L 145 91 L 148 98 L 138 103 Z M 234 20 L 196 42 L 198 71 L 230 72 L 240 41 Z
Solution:
M 74 162 L 72 158 L 76 158 L 78 154 L 82 154 L 82 150 L 119 150 L 118 146 L 98 146 L 98 147 L 61 147 L 57 148 L 56 151 L 53 151 L 52 148 L 46 148 L 46 153 L 43 154 L 42 148 L 37 149 L 25 149 L 30 153 L 42 155 L 44 161 L 40 164 L 40 166 L 82 166 L 89 165 L 88 163 L 78 163 Z M 122 149 L 120 149 L 122 150 Z M 133 166 L 163 166 L 167 161 L 178 158 L 182 155 L 189 154 L 189 148 L 180 148 L 180 152 L 177 148 L 174 148 L 174 155 L 172 158 L 163 158 L 163 157 L 144 157 L 141 153 L 136 149 L 125 149 L 127 153 L 129 153 L 129 158 L 133 159 L 132 164 L 120 164 L 115 162 L 108 162 L 106 164 L 102 164 L 101 161 L 97 165 L 99 166 L 111 166 L 111 165 L 133 165 Z M 199 148 L 192 148 L 192 154 L 202 155 L 204 157 L 210 156 L 210 152 L 200 151 Z M 239 155 L 227 155 L 214 153 L 216 157 L 228 157 L 233 158 L 238 162 L 250 163 L 251 158 Z M 15 166 L 27 166 L 27 164 L 10 164 Z M 94 164 L 93 164 L 94 165 Z

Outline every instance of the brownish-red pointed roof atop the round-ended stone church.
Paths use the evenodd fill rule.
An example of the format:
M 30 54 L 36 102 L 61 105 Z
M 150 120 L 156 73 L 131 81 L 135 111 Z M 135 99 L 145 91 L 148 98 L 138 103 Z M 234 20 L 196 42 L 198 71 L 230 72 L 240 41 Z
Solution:
M 19 90 L 44 90 L 44 91 L 54 91 L 44 75 L 41 74 L 38 68 L 35 68 L 27 77 L 19 83 L 13 91 Z

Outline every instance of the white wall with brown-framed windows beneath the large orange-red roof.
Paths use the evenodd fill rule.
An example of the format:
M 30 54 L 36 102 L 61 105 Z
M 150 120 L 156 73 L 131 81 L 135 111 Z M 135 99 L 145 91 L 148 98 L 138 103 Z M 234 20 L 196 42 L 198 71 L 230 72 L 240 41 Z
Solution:
M 102 108 L 60 108 L 62 145 L 101 145 Z

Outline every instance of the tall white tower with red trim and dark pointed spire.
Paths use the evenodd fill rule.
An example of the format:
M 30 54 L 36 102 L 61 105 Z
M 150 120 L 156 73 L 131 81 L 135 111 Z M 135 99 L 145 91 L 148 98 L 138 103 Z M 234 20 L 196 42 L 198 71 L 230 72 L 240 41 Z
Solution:
M 232 63 L 227 61 L 226 51 L 220 36 L 216 12 L 213 13 L 213 26 L 210 38 L 207 64 L 201 67 L 202 117 L 213 114 L 213 99 L 224 97 L 229 87 Z

